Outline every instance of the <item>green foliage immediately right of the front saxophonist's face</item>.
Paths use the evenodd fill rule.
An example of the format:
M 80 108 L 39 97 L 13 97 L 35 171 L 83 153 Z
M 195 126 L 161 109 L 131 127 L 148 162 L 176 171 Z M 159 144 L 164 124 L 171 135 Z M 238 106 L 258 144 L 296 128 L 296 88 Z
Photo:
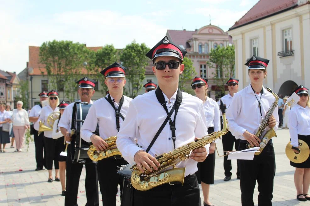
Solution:
M 193 90 L 191 89 L 191 80 L 197 74 L 195 71 L 195 67 L 193 66 L 193 62 L 187 58 L 183 58 L 184 64 L 184 71 L 179 77 L 179 87 L 180 90 L 183 92 L 187 92 L 190 94 L 194 94 Z

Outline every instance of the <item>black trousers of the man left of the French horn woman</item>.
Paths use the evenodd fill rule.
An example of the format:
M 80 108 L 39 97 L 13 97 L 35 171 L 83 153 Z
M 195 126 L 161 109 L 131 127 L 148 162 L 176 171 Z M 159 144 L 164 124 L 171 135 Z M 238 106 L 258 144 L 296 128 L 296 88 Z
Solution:
M 44 134 L 38 135 L 38 131 L 33 129 L 33 139 L 36 147 L 36 168 L 47 168 L 46 166 L 46 149 L 44 148 Z M 44 156 L 43 156 L 44 151 Z

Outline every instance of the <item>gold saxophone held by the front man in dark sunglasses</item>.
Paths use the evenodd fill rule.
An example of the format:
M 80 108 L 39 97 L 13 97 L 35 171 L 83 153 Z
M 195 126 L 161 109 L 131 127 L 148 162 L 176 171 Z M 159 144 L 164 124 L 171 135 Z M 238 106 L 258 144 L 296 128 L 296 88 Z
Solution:
M 213 132 L 212 134 L 206 135 L 201 139 L 197 139 L 193 142 L 187 143 L 184 146 L 177 148 L 169 153 L 163 153 L 162 155 L 156 156 L 160 167 L 157 171 L 149 172 L 145 169 L 141 172 L 135 164 L 130 168 L 131 173 L 131 184 L 132 186 L 141 191 L 152 189 L 156 186 L 169 183 L 169 182 L 181 182 L 183 185 L 185 168 L 176 168 L 175 164 L 180 161 L 185 161 L 190 158 L 191 152 L 197 148 L 204 147 L 211 143 L 222 135 L 228 132 L 228 121 L 225 115 L 226 105 L 221 101 L 220 109 L 223 113 L 223 129 L 222 131 Z M 172 169 L 168 169 L 173 166 Z

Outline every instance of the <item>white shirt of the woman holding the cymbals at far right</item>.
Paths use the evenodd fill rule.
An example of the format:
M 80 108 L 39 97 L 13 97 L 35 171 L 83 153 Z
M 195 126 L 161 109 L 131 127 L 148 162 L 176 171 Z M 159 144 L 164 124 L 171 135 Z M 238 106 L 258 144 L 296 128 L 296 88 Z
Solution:
M 298 135 L 310 135 L 310 108 L 296 104 L 289 113 L 291 145 L 298 147 Z

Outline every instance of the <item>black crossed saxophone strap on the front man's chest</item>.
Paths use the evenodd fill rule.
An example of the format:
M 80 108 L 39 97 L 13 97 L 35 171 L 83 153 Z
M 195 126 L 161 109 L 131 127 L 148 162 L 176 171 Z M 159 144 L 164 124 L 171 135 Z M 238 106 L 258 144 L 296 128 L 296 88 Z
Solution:
M 153 146 L 154 142 L 156 141 L 156 139 L 158 138 L 159 134 L 161 133 L 161 131 L 163 130 L 163 128 L 166 126 L 167 122 L 169 121 L 169 125 L 170 125 L 170 129 L 171 129 L 171 133 L 172 133 L 172 140 L 173 140 L 173 145 L 174 145 L 174 149 L 175 149 L 175 140 L 176 140 L 176 135 L 175 135 L 175 119 L 176 119 L 176 115 L 178 113 L 179 107 L 181 105 L 182 102 L 182 92 L 181 90 L 178 88 L 178 92 L 176 95 L 176 101 L 173 105 L 173 107 L 171 108 L 170 112 L 168 113 L 168 108 L 166 106 L 166 102 L 165 102 L 165 98 L 163 96 L 163 92 L 161 91 L 161 89 L 159 87 L 157 87 L 156 91 L 155 91 L 156 97 L 158 102 L 163 106 L 163 108 L 165 109 L 165 111 L 167 112 L 167 118 L 165 119 L 165 121 L 163 122 L 163 124 L 161 125 L 161 127 L 158 129 L 158 132 L 156 133 L 156 135 L 154 136 L 153 140 L 151 141 L 150 145 L 147 147 L 146 152 L 150 151 L 151 147 Z M 174 113 L 174 120 L 171 120 L 171 115 Z

